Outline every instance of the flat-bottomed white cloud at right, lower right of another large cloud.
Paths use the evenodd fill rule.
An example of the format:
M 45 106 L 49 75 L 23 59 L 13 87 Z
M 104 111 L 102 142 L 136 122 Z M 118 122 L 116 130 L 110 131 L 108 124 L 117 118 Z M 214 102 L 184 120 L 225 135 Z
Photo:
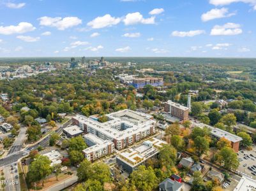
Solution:
M 241 34 L 243 32 L 242 29 L 240 29 L 241 25 L 235 24 L 232 22 L 229 22 L 225 25 L 215 25 L 213 29 L 211 29 L 211 35 L 217 36 L 217 35 L 237 35 Z

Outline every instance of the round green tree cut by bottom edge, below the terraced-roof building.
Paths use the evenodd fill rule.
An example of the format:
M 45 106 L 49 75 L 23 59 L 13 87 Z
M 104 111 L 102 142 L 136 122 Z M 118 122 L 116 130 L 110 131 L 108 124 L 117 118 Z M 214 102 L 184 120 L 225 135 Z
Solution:
M 130 176 L 135 187 L 142 191 L 153 190 L 158 185 L 158 179 L 151 167 L 141 165 Z

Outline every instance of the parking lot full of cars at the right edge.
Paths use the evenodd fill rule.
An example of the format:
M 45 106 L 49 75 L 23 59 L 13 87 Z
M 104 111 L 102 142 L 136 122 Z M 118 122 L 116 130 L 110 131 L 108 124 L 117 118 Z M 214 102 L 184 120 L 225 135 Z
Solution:
M 256 179 L 256 146 L 253 146 L 253 150 L 241 150 L 237 154 L 240 162 L 237 171 Z

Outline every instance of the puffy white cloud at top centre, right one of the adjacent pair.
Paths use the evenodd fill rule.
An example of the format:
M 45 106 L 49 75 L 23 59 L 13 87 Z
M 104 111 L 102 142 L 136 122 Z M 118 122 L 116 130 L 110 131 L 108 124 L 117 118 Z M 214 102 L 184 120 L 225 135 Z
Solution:
M 154 24 L 154 17 L 143 18 L 139 12 L 128 13 L 123 20 L 125 25 Z

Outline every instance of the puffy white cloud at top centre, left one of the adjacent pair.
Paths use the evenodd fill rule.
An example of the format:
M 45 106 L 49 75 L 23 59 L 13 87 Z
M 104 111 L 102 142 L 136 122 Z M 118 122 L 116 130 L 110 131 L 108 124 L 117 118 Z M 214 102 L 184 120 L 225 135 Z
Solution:
M 92 27 L 93 29 L 101 29 L 104 27 L 111 27 L 112 25 L 117 25 L 121 21 L 121 18 L 111 17 L 107 14 L 103 17 L 96 17 L 94 20 L 91 20 L 87 23 L 87 26 Z

